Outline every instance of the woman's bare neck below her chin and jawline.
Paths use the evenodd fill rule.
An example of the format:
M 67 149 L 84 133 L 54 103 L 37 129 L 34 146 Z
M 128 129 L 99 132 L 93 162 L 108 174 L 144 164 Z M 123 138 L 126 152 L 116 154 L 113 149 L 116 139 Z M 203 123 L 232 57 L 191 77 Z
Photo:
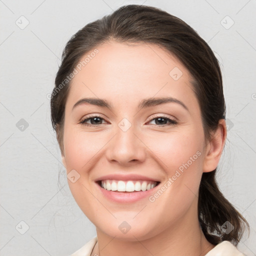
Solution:
M 196 206 L 191 207 L 194 208 Z M 191 212 L 197 212 L 194 209 L 190 210 Z M 113 238 L 98 228 L 96 228 L 96 231 L 98 241 L 91 255 L 203 256 L 214 247 L 203 235 L 197 214 L 191 216 L 189 212 L 187 212 L 186 216 L 175 221 L 175 224 L 167 226 L 161 233 L 141 241 L 139 239 L 129 241 Z

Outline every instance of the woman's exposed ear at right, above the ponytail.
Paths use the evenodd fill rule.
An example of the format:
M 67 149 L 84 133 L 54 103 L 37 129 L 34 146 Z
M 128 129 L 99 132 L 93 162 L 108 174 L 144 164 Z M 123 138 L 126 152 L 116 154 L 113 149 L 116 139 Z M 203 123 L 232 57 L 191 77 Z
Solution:
M 226 139 L 226 122 L 220 119 L 217 129 L 211 134 L 210 141 L 206 145 L 203 172 L 214 170 L 219 162 Z

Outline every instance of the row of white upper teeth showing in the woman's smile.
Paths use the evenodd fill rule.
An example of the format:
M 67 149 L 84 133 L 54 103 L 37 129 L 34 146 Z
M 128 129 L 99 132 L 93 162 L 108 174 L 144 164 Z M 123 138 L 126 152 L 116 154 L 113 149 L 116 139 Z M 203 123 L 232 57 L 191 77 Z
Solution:
M 152 189 L 156 186 L 156 181 L 146 181 L 146 180 L 113 180 L 106 179 L 101 180 L 101 187 L 106 190 L 120 191 L 120 192 L 133 192 L 133 191 L 145 191 Z

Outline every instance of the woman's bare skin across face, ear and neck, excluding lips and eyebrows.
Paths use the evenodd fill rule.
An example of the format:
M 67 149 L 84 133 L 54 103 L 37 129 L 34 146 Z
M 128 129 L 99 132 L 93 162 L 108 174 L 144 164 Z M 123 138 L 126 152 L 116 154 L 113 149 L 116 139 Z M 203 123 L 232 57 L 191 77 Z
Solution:
M 96 226 L 98 242 L 91 255 L 206 254 L 214 246 L 199 227 L 198 187 L 202 172 L 215 169 L 219 161 L 226 137 L 224 120 L 212 140 L 205 141 L 192 77 L 159 46 L 109 41 L 97 49 L 71 81 L 62 155 L 67 173 L 75 169 L 80 175 L 74 183 L 68 180 L 71 193 Z M 177 80 L 169 75 L 174 67 L 182 71 Z M 142 99 L 166 96 L 182 101 L 188 110 L 175 102 L 138 110 Z M 72 110 L 83 97 L 105 99 L 113 108 L 82 104 Z M 103 119 L 97 126 L 79 123 L 89 114 Z M 153 119 L 162 115 L 177 124 L 165 120 L 162 126 Z M 127 131 L 118 126 L 123 118 L 131 124 Z M 95 125 L 92 119 L 86 123 Z M 148 197 L 133 203 L 110 201 L 94 182 L 106 174 L 135 173 L 154 177 L 161 187 L 198 151 L 200 156 L 153 202 Z M 123 221 L 131 226 L 125 234 L 118 228 Z

